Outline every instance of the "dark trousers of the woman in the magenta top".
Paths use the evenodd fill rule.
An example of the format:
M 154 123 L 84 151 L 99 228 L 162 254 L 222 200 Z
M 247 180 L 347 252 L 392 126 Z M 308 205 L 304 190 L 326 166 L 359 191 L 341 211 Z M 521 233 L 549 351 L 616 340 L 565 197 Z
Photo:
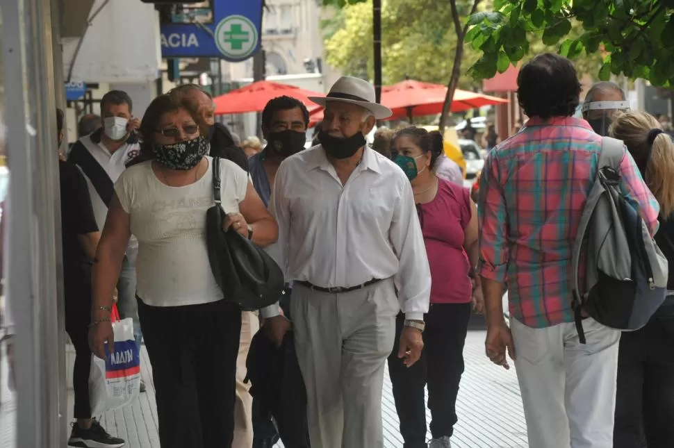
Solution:
M 433 438 L 451 437 L 457 423 L 457 394 L 463 374 L 463 344 L 466 342 L 470 304 L 431 304 L 425 316 L 424 349 L 420 360 L 405 367 L 398 358 L 404 316 L 395 322 L 395 345 L 388 357 L 395 409 L 400 418 L 404 448 L 426 447 L 426 403 L 431 411 Z

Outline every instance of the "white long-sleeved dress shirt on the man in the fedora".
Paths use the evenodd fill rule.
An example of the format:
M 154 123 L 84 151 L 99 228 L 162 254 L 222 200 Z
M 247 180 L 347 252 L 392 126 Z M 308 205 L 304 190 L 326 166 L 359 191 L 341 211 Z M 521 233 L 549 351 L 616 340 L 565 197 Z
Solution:
M 429 308 L 431 274 L 409 180 L 369 147 L 342 185 L 320 145 L 281 163 L 270 213 L 279 240 L 268 251 L 287 281 L 322 288 L 361 285 L 395 276 L 407 319 Z M 262 310 L 263 317 L 279 307 Z

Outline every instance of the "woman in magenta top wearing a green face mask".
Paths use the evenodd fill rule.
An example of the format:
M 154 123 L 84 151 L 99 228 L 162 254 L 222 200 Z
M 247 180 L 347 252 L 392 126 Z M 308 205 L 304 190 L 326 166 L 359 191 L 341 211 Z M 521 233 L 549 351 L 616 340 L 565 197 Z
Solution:
M 429 446 L 447 448 L 457 423 L 457 393 L 471 304 L 479 313 L 484 308 L 475 283 L 479 277 L 474 273 L 478 256 L 477 208 L 468 189 L 434 173 L 436 160 L 443 153 L 440 133 L 413 126 L 404 128 L 391 140 L 391 150 L 393 160 L 412 184 L 431 267 L 431 306 L 425 316 L 425 347 L 419 362 L 406 367 L 397 357 L 398 347 L 394 347 L 388 358 L 388 372 L 404 448 L 427 447 L 426 385 L 431 411 Z M 404 317 L 399 315 L 398 335 L 403 323 Z

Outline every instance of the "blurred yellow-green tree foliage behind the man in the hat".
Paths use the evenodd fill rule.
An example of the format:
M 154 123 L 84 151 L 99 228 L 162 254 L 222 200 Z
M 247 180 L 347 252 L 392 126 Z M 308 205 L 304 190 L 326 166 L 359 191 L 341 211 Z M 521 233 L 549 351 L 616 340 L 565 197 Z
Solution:
M 337 0 L 328 0 L 337 1 Z M 322 24 L 326 62 L 344 74 L 372 78 L 372 0 L 352 0 Z M 445 3 L 438 8 L 438 3 Z M 459 0 L 462 19 L 470 3 Z M 461 4 L 463 3 L 463 4 Z M 465 20 L 463 20 L 465 22 Z M 454 65 L 457 33 L 449 1 L 384 0 L 381 8 L 381 58 L 384 85 L 405 76 L 446 84 Z M 476 85 L 468 69 L 477 62 L 477 51 L 466 51 L 461 61 L 461 88 Z

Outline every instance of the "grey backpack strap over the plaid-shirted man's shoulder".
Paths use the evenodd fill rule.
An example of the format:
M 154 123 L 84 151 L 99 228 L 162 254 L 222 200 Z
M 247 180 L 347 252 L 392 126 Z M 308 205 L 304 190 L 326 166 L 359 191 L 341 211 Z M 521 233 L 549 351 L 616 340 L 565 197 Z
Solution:
M 583 213 L 580 217 L 580 223 L 578 224 L 576 238 L 573 242 L 573 251 L 571 253 L 571 292 L 573 294 L 572 308 L 576 329 L 582 344 L 585 343 L 585 333 L 582 326 L 583 299 L 581 297 L 578 280 L 580 254 L 583 248 L 583 242 L 585 240 L 584 236 L 594 214 L 595 207 L 597 206 L 597 203 L 601 199 L 602 195 L 605 193 L 605 189 L 598 179 L 599 172 L 602 168 L 607 167 L 616 170 L 616 172 L 619 172 L 618 167 L 620 167 L 623 157 L 625 157 L 625 149 L 621 140 L 616 140 L 615 138 L 610 137 L 602 137 L 602 150 L 599 155 L 597 174 L 595 174 L 595 181 L 583 208 Z

